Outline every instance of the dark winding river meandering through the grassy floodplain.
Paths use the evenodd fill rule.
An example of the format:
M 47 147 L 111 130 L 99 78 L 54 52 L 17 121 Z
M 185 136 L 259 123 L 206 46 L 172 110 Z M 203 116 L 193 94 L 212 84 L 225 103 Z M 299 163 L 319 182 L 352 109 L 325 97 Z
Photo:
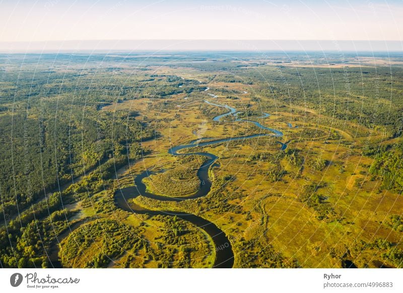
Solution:
M 205 91 L 208 91 L 209 88 L 207 88 Z M 208 93 L 209 96 L 216 98 L 216 95 Z M 213 267 L 214 268 L 231 268 L 234 264 L 234 253 L 232 251 L 232 246 L 231 242 L 229 241 L 228 237 L 225 235 L 225 233 L 220 230 L 214 223 L 206 220 L 205 218 L 199 217 L 194 214 L 188 214 L 185 212 L 177 212 L 177 211 L 159 211 L 159 210 L 150 210 L 150 209 L 145 209 L 134 202 L 132 202 L 129 199 L 133 199 L 138 197 L 139 195 L 146 196 L 149 198 L 157 199 L 157 200 L 166 200 L 166 201 L 182 201 L 182 200 L 187 200 L 187 199 L 192 199 L 192 198 L 198 198 L 202 196 L 206 196 L 212 186 L 212 182 L 209 178 L 209 169 L 214 168 L 215 166 L 218 166 L 219 164 L 215 163 L 218 157 L 214 154 L 211 153 L 204 153 L 204 152 L 194 152 L 194 153 L 181 153 L 180 151 L 184 149 L 189 149 L 193 148 L 195 146 L 203 147 L 203 146 L 208 146 L 208 145 L 213 145 L 213 144 L 218 144 L 218 143 L 223 143 L 227 141 L 233 141 L 233 140 L 244 140 L 244 139 L 249 139 L 249 138 L 255 138 L 259 136 L 274 136 L 274 137 L 281 137 L 283 136 L 283 132 L 277 129 L 273 128 L 268 128 L 263 125 L 261 125 L 257 121 L 252 121 L 252 120 L 243 120 L 237 117 L 237 114 L 240 112 L 237 112 L 235 108 L 232 108 L 228 105 L 220 105 L 216 103 L 212 103 L 209 101 L 205 101 L 207 104 L 216 106 L 216 107 L 222 107 L 226 108 L 229 110 L 229 112 L 218 115 L 213 118 L 213 121 L 220 121 L 222 118 L 226 116 L 232 115 L 233 121 L 245 121 L 249 123 L 253 123 L 257 127 L 263 129 L 263 130 L 268 130 L 271 131 L 272 133 L 259 133 L 259 134 L 253 134 L 253 135 L 248 135 L 248 136 L 239 136 L 239 137 L 231 137 L 231 138 L 223 138 L 223 139 L 217 139 L 217 140 L 212 140 L 212 138 L 202 138 L 202 139 L 196 139 L 193 141 L 190 141 L 187 144 L 181 144 L 174 146 L 173 148 L 168 150 L 168 153 L 173 155 L 173 156 L 190 156 L 190 155 L 200 155 L 200 156 L 205 156 L 208 158 L 208 160 L 200 166 L 200 168 L 197 171 L 197 177 L 200 180 L 200 186 L 193 195 L 186 196 L 186 197 L 169 197 L 169 196 L 163 196 L 163 195 L 158 195 L 154 193 L 150 193 L 147 191 L 146 185 L 143 183 L 143 179 L 150 176 L 153 174 L 153 172 L 146 170 L 136 176 L 134 183 L 135 186 L 129 186 L 129 187 L 124 187 L 115 193 L 114 199 L 115 199 L 115 204 L 126 211 L 129 212 L 135 212 L 135 213 L 147 213 L 151 215 L 176 215 L 177 217 L 180 217 L 184 219 L 185 221 L 189 221 L 195 226 L 203 229 L 210 237 L 213 239 L 215 248 L 216 248 L 216 259 L 214 262 Z M 261 117 L 257 118 L 266 118 L 270 116 L 268 113 L 262 113 L 263 115 Z M 208 141 L 204 141 L 207 140 Z M 281 144 L 281 150 L 285 150 L 287 148 L 287 144 L 277 141 L 278 143 Z

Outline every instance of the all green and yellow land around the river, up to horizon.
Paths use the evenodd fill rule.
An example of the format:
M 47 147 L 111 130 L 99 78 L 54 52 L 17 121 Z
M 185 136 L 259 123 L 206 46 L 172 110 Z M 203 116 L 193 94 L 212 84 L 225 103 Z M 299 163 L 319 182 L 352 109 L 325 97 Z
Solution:
M 0 267 L 403 267 L 401 57 L 144 54 L 0 54 Z

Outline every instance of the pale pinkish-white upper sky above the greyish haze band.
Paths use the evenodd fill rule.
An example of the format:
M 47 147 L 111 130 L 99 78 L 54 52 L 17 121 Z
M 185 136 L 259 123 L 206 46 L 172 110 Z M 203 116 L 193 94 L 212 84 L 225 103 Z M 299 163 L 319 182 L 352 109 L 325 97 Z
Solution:
M 402 36 L 402 0 L 0 0 L 0 42 Z

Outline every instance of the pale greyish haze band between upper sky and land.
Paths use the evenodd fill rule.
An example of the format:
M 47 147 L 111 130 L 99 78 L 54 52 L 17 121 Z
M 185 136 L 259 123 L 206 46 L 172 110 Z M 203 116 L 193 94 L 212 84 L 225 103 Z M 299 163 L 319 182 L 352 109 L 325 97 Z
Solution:
M 94 39 L 0 41 L 0 52 L 34 51 L 373 51 L 401 52 L 402 40 Z

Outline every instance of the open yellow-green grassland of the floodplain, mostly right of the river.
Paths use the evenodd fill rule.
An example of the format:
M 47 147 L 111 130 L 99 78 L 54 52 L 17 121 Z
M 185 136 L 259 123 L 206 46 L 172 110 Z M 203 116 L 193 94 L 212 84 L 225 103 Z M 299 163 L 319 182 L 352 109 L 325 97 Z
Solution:
M 208 86 L 214 92 L 214 86 L 224 85 L 216 83 L 214 86 L 213 84 Z M 238 89 L 240 90 L 239 87 Z M 230 100 L 219 96 L 215 102 L 236 107 L 237 103 L 246 101 L 247 96 L 245 95 L 245 100 Z M 175 104 L 178 99 L 182 98 L 175 97 L 171 102 Z M 137 111 L 142 113 L 140 109 L 142 103 L 144 106 L 149 102 L 136 101 Z M 151 123 L 154 123 L 154 119 L 159 119 L 155 125 L 161 137 L 143 143 L 153 153 L 132 167 L 130 171 L 133 176 L 146 168 L 154 167 L 158 170 L 174 166 L 178 158 L 169 155 L 167 150 L 171 146 L 197 138 L 192 132 L 200 129 L 201 121 L 205 121 L 203 125 L 207 126 L 203 133 L 204 137 L 223 138 L 239 136 L 240 133 L 262 132 L 261 129 L 245 122 L 213 122 L 212 117 L 205 116 L 200 109 L 210 107 L 216 114 L 224 113 L 226 110 L 222 109 L 220 112 L 220 109 L 214 109 L 214 106 L 205 105 L 201 97 L 195 96 L 191 104 L 182 105 L 178 109 L 171 107 L 163 112 L 158 110 L 159 101 L 151 103 L 156 107 L 148 108 L 147 117 L 151 118 Z M 258 110 L 259 105 L 252 102 L 251 109 Z M 305 111 L 312 118 L 317 115 L 310 109 L 298 110 Z M 316 126 L 304 120 L 305 114 L 299 113 L 293 114 L 291 121 L 293 125 L 300 127 L 289 128 L 285 122 L 290 121 L 290 112 L 287 110 L 267 112 L 272 115 L 260 119 L 259 122 L 267 127 L 280 129 L 285 133 L 284 137 L 258 137 L 182 150 L 182 152 L 203 150 L 219 157 L 217 162 L 220 167 L 212 169 L 214 175 L 212 192 L 206 197 L 184 202 L 162 202 L 139 196 L 133 202 L 146 208 L 186 211 L 203 216 L 222 229 L 233 244 L 241 239 L 263 241 L 262 245 L 264 243 L 267 246 L 272 245 L 275 251 L 287 258 L 296 259 L 303 267 L 341 267 L 342 259 L 345 258 L 357 259 L 357 264 L 360 266 L 371 266 L 370 257 L 376 252 L 366 250 L 363 255 L 354 253 L 358 247 L 357 239 L 365 242 L 371 242 L 376 238 L 394 243 L 401 241 L 398 232 L 382 224 L 390 214 L 402 213 L 401 197 L 392 191 L 379 193 L 380 178 L 367 175 L 368 166 L 372 164 L 373 159 L 361 155 L 360 146 L 366 138 L 354 138 L 354 124 L 342 129 L 327 122 Z M 175 114 L 178 115 L 174 118 Z M 360 130 L 362 133 L 370 131 L 362 126 L 356 126 L 362 128 Z M 326 133 L 331 130 L 336 135 L 323 135 L 312 140 L 311 137 L 301 135 L 304 127 L 313 131 L 318 128 Z M 379 139 L 383 134 L 372 131 L 372 135 L 371 139 Z M 289 139 L 291 142 L 288 149 L 296 149 L 298 156 L 303 158 L 302 169 L 301 166 L 290 164 L 287 157 L 282 157 L 276 162 L 272 159 L 251 160 L 251 156 L 255 154 L 266 153 L 275 156 L 281 152 L 281 146 L 275 143 L 275 140 Z M 345 144 L 345 141 L 354 142 L 353 147 Z M 308 164 L 317 157 L 326 161 L 323 170 L 314 170 Z M 286 172 L 280 180 L 273 182 L 268 180 L 266 171 L 275 166 L 280 166 Z M 230 183 L 223 185 L 227 175 L 232 176 Z M 360 181 L 363 181 L 362 185 Z M 318 219 L 317 211 L 300 200 L 303 186 L 309 184 L 318 186 L 317 192 L 334 210 L 324 219 Z M 224 192 L 228 197 L 228 203 L 240 207 L 240 212 L 235 209 L 220 212 L 216 208 L 220 204 L 215 198 L 217 195 L 215 190 L 222 190 L 220 192 Z M 236 245 L 233 248 L 237 266 L 240 265 L 239 255 L 243 252 L 237 250 Z

